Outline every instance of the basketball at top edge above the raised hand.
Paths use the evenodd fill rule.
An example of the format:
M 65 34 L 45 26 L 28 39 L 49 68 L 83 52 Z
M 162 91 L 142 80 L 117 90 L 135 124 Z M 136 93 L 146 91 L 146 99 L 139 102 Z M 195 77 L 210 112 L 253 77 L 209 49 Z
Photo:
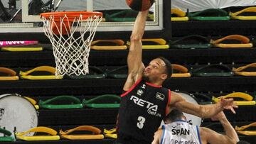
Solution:
M 127 5 L 135 11 L 146 11 L 152 6 L 152 4 L 154 4 L 154 0 L 126 0 L 126 1 L 127 1 Z

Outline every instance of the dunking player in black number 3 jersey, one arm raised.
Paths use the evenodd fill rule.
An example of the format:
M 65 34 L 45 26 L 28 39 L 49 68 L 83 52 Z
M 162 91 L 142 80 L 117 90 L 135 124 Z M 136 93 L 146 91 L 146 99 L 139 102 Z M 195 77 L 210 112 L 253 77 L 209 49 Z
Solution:
M 218 104 L 195 105 L 185 101 L 180 94 L 161 87 L 171 77 L 171 64 L 164 57 L 158 57 L 144 67 L 142 63 L 142 36 L 148 11 L 138 13 L 127 57 L 128 77 L 124 84 L 122 101 L 117 118 L 117 142 L 143 144 L 151 143 L 154 132 L 164 116 L 171 109 L 209 118 L 235 106 L 233 99 L 222 99 Z

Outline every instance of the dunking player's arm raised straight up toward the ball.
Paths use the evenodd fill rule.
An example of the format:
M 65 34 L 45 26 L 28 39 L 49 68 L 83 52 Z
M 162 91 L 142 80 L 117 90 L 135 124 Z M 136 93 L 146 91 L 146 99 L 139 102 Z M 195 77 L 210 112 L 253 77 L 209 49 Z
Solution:
M 129 90 L 138 79 L 142 78 L 142 72 L 144 70 L 144 65 L 142 63 L 142 37 L 148 12 L 148 10 L 140 11 L 134 23 L 130 38 L 131 45 L 127 57 L 128 77 L 124 84 L 124 91 Z

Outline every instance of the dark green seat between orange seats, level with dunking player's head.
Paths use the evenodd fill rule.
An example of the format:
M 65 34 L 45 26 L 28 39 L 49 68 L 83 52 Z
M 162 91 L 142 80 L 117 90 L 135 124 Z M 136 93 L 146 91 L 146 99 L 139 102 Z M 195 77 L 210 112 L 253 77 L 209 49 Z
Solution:
M 192 70 L 192 75 L 196 77 L 231 77 L 232 70 L 226 65 L 206 65 Z

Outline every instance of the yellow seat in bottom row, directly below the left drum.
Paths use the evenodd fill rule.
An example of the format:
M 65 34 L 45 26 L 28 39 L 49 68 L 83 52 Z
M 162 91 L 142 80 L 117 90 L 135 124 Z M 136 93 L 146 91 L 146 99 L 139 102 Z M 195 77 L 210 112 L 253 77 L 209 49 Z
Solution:
M 33 136 L 26 136 L 27 133 L 46 133 L 47 135 L 33 135 Z M 16 138 L 19 140 L 27 140 L 27 141 L 36 141 L 36 140 L 60 140 L 60 136 L 57 135 L 57 131 L 53 130 L 52 128 L 39 126 L 36 128 L 31 128 L 28 131 L 15 133 Z

